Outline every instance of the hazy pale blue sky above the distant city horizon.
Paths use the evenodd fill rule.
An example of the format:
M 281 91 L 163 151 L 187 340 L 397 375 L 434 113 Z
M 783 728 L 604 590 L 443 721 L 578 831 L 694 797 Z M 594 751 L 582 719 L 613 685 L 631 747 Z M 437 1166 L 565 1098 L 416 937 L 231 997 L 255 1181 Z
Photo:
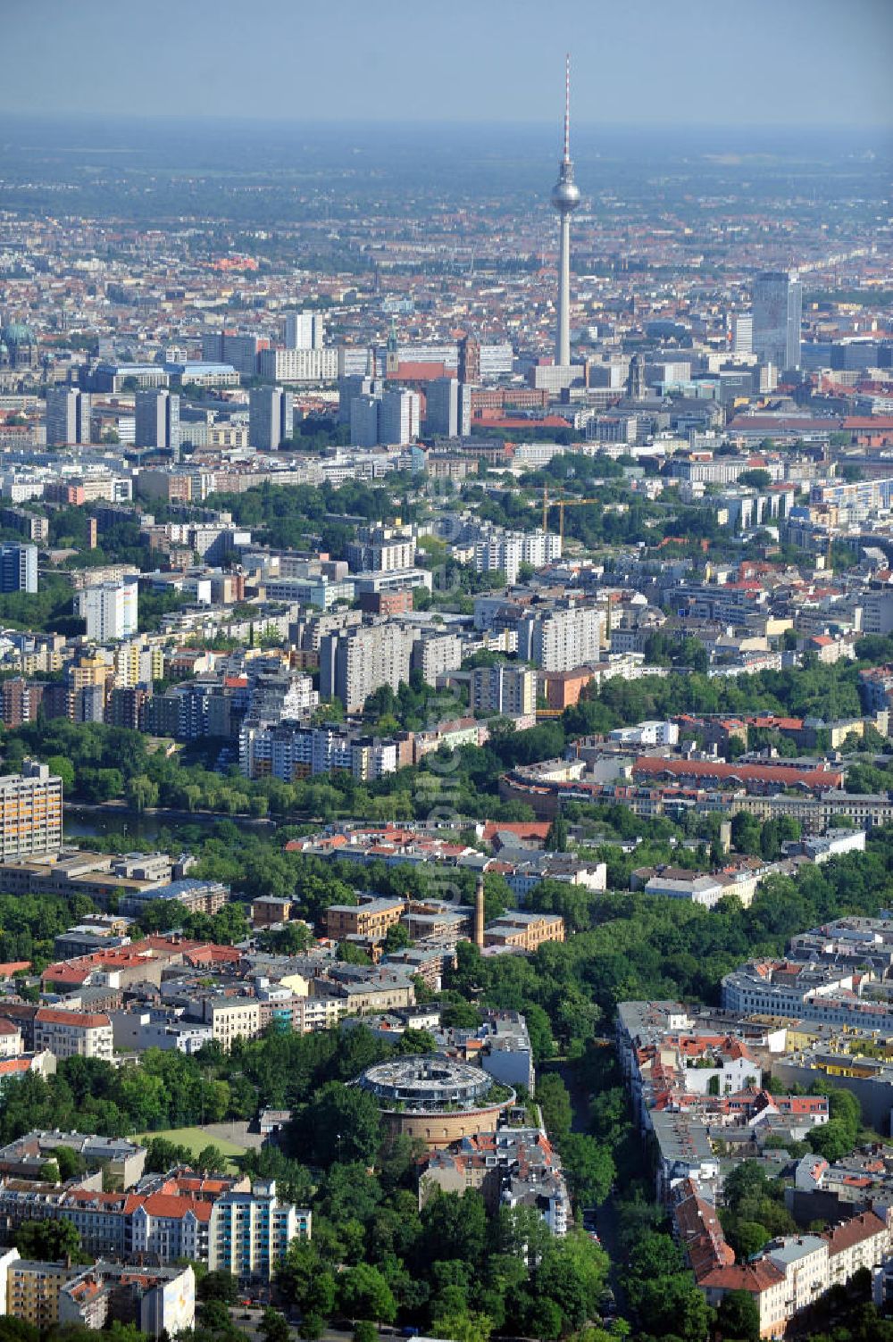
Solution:
M 0 109 L 893 125 L 893 0 L 0 0 Z

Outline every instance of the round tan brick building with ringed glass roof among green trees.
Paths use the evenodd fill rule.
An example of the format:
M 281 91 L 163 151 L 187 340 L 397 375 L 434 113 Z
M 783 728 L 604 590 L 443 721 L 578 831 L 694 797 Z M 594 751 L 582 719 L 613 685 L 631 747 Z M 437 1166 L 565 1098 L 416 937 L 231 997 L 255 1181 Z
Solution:
M 514 1091 L 443 1053 L 393 1057 L 368 1067 L 357 1080 L 373 1095 L 395 1134 L 406 1133 L 435 1149 L 477 1133 L 493 1133 Z

